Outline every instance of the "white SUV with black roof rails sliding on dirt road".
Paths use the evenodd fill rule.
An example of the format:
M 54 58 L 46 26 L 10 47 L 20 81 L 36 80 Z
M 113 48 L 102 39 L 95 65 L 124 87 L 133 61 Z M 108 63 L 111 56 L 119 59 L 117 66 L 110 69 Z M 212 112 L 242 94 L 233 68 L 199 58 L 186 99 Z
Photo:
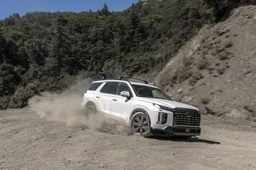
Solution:
M 132 77 L 92 82 L 83 96 L 87 111 L 125 120 L 135 136 L 198 136 L 200 112 L 196 107 L 173 101 L 154 85 L 130 82 Z

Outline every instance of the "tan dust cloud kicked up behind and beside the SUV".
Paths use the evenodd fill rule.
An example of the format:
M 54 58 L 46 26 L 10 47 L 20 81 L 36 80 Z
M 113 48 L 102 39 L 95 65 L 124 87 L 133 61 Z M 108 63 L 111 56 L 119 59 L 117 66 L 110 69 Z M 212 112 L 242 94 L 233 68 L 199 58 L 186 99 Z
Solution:
M 62 93 L 41 93 L 29 99 L 29 107 L 49 121 L 63 122 L 72 127 L 89 128 L 108 134 L 129 135 L 129 128 L 124 122 L 116 121 L 108 115 L 86 114 L 81 104 L 83 93 L 89 85 L 91 80 L 77 80 Z

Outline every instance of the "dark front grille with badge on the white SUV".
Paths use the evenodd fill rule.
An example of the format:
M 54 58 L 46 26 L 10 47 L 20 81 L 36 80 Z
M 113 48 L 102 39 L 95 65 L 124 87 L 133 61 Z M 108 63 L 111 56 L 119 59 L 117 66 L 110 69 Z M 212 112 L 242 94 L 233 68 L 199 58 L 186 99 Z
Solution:
M 174 109 L 174 125 L 200 125 L 200 112 L 194 109 Z

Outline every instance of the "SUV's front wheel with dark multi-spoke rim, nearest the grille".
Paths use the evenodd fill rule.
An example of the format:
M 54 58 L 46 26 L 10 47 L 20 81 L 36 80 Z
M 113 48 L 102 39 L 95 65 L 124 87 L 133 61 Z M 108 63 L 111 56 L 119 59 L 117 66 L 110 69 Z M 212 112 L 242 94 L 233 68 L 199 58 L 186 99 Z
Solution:
M 148 115 L 143 112 L 137 112 L 132 116 L 130 121 L 130 129 L 135 136 L 149 137 L 151 136 L 150 120 Z

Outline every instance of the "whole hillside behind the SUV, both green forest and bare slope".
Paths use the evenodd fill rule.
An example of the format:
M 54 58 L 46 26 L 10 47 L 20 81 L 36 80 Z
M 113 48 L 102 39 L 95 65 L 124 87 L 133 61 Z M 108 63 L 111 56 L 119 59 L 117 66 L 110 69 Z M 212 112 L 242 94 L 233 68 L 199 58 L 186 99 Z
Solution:
M 123 12 L 105 4 L 97 12 L 13 14 L 0 20 L 0 109 L 26 107 L 78 77 L 123 75 L 154 82 L 204 113 L 253 119 L 249 4 L 256 1 L 150 0 Z

